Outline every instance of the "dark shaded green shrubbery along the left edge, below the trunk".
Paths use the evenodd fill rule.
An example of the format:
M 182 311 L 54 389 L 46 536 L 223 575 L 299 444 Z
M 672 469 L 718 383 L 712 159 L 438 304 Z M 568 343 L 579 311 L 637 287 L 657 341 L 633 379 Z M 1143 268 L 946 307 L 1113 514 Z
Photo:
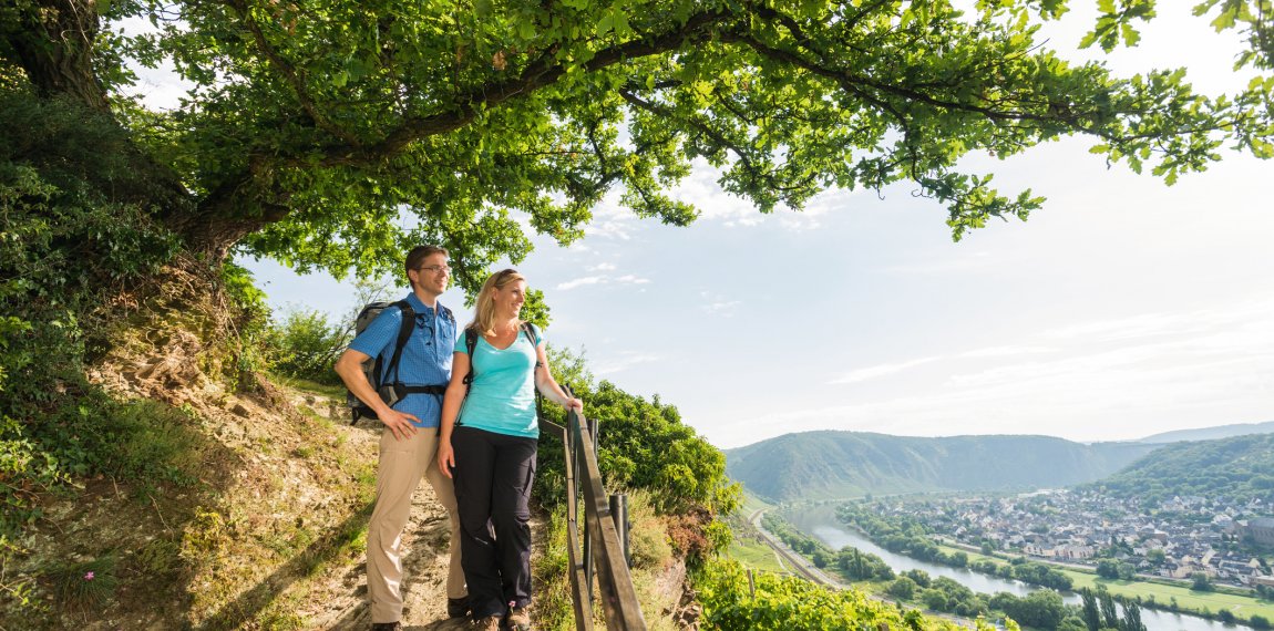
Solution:
M 0 90 L 0 532 L 13 533 L 38 515 L 36 492 L 121 464 L 111 399 L 84 377 L 103 347 L 97 309 L 177 242 L 127 201 L 152 183 L 117 158 L 111 121 Z

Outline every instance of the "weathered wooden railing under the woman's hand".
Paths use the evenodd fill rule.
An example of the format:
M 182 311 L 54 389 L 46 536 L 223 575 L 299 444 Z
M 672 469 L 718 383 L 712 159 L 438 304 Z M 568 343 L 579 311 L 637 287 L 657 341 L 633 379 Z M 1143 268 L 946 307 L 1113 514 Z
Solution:
M 566 457 L 567 523 L 571 550 L 571 592 L 575 627 L 592 630 L 592 578 L 596 570 L 606 628 L 645 631 L 646 621 L 628 574 L 627 508 L 622 496 L 610 497 L 598 469 L 598 425 L 576 412 L 567 413 L 567 426 L 540 419 L 543 430 L 562 438 Z M 580 536 L 580 506 L 583 506 L 583 536 Z

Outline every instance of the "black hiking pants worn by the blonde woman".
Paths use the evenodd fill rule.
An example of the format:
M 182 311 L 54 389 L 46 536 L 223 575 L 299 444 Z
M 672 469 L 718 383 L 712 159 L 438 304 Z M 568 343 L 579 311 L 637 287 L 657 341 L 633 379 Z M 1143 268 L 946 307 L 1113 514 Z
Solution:
M 533 438 L 459 426 L 451 435 L 460 562 L 475 620 L 531 602 Z

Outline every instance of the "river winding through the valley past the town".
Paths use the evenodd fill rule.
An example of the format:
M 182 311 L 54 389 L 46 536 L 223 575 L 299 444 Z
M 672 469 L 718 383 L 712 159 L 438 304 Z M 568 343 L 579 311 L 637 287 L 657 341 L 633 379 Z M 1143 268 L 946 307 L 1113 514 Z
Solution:
M 966 569 L 919 561 L 908 556 L 889 552 L 888 550 L 871 543 L 870 539 L 859 534 L 856 530 L 851 530 L 846 528 L 845 524 L 837 522 L 833 506 L 823 505 L 800 510 L 785 510 L 782 515 L 801 532 L 818 537 L 819 541 L 827 543 L 833 550 L 852 546 L 862 552 L 870 552 L 883 558 L 884 562 L 889 564 L 889 567 L 893 567 L 896 572 L 917 569 L 925 570 L 930 576 L 947 576 L 972 589 L 973 592 L 982 594 L 1008 592 L 1014 595 L 1026 595 L 1032 590 L 1038 589 L 1019 580 L 989 576 L 986 574 Z M 1061 597 L 1066 604 L 1079 604 L 1079 597 L 1074 593 L 1063 592 Z M 1145 623 L 1147 631 L 1249 631 L 1249 627 L 1246 626 L 1223 625 L 1220 622 L 1200 618 L 1198 616 L 1161 612 L 1144 607 L 1142 608 L 1142 622 Z

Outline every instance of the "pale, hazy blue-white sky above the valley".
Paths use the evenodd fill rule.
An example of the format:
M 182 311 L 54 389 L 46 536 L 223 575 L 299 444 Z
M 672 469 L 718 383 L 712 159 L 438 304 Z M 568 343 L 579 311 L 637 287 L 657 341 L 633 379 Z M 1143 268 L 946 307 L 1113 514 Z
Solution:
M 1237 37 L 1189 4 L 1161 3 L 1139 48 L 1108 65 L 1186 66 L 1204 92 L 1245 85 Z M 1068 52 L 1088 24 L 1073 11 L 1047 46 L 1091 57 Z M 150 81 L 157 102 L 180 93 Z M 1047 202 L 959 243 L 913 186 L 762 215 L 699 164 L 675 191 L 702 210 L 689 228 L 638 220 L 613 195 L 585 239 L 536 237 L 517 267 L 552 308 L 552 345 L 657 393 L 720 448 L 808 430 L 1096 441 L 1274 420 L 1274 164 L 1227 154 L 1167 187 L 1089 145 L 970 158 L 1003 192 Z M 353 307 L 349 279 L 245 263 L 279 313 Z M 459 290 L 442 302 L 468 321 Z

